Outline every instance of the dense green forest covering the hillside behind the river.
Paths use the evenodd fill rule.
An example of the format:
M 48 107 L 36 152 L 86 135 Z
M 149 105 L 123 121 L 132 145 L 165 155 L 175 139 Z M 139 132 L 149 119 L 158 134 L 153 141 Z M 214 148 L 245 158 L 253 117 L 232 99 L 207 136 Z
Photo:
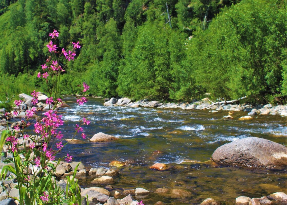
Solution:
M 285 0 L 3 0 L 0 100 L 35 88 L 49 56 L 79 41 L 62 94 L 286 102 Z M 63 59 L 64 61 L 65 59 Z M 66 62 L 63 62 L 65 64 Z

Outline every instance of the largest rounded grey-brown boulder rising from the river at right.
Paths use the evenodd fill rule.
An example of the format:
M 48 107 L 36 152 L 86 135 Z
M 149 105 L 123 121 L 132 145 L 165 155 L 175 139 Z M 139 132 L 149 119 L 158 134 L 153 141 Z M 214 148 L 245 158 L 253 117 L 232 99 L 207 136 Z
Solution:
M 287 165 L 287 148 L 270 140 L 248 137 L 220 146 L 212 159 L 220 164 L 282 168 Z

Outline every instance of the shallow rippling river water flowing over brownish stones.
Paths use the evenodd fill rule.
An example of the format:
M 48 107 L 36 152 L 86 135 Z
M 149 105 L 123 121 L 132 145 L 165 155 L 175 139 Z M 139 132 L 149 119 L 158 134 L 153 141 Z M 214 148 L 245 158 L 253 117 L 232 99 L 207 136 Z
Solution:
M 91 121 L 84 126 L 87 138 L 98 132 L 119 138 L 112 142 L 68 144 L 63 148 L 63 154 L 71 154 L 88 168 L 111 169 L 114 167 L 109 163 L 113 160 L 129 162 L 129 166 L 116 168 L 120 175 L 115 177 L 112 193 L 145 188 L 152 193 L 143 198 L 144 204 L 157 201 L 199 204 L 208 197 L 222 204 L 234 204 L 238 196 L 253 198 L 274 192 L 287 193 L 286 170 L 218 166 L 210 161 L 219 146 L 251 136 L 286 146 L 286 118 L 256 116 L 253 120 L 239 121 L 236 119 L 247 113 L 234 112 L 234 120 L 223 120 L 228 111 L 211 114 L 208 110 L 104 107 L 99 98 L 89 98 L 84 106 L 70 104 L 59 112 L 65 120 L 62 130 L 65 138 L 72 138 L 75 124 L 83 117 Z M 170 169 L 150 170 L 154 163 L 168 164 Z M 93 179 L 79 177 L 79 184 L 94 186 L 90 184 Z M 179 188 L 191 194 L 188 197 L 156 194 L 157 188 Z

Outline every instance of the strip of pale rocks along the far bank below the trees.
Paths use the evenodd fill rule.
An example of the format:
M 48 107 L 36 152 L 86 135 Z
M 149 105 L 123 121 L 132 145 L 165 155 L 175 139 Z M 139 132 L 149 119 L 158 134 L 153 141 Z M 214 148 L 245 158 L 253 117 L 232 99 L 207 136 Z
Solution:
M 273 106 L 271 104 L 266 105 L 251 105 L 251 104 L 227 104 L 220 103 L 212 105 L 212 102 L 208 98 L 195 101 L 193 103 L 160 103 L 158 101 L 140 100 L 133 102 L 131 99 L 124 97 L 116 99 L 112 97 L 107 99 L 104 106 L 128 106 L 128 107 L 148 107 L 148 108 L 180 108 L 183 110 L 212 110 L 210 112 L 215 113 L 221 110 L 225 111 L 244 111 L 248 112 L 248 116 L 254 115 L 280 115 L 287 117 L 287 105 Z

